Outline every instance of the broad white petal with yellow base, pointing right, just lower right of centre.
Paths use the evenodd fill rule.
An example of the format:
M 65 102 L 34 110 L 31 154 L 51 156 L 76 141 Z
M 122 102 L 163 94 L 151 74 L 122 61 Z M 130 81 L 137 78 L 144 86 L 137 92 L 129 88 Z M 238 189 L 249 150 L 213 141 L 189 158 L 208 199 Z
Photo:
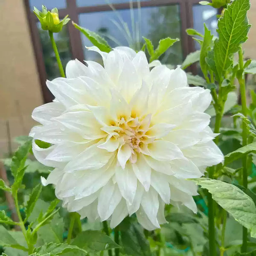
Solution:
M 153 143 L 149 144 L 148 150 L 150 156 L 159 161 L 171 161 L 184 158 L 180 148 L 165 140 L 155 140 Z

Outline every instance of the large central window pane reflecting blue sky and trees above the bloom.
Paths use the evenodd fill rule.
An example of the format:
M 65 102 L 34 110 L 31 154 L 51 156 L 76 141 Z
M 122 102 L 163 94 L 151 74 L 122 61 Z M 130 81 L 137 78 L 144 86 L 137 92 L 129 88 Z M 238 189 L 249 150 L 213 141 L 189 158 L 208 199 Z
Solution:
M 180 11 L 178 5 L 154 6 L 141 9 L 93 12 L 79 15 L 80 26 L 99 33 L 108 41 L 111 47 L 129 46 L 140 50 L 144 44 L 142 36 L 151 39 L 156 48 L 162 38 L 180 38 Z M 84 46 L 92 46 L 90 41 L 82 35 Z M 97 53 L 84 48 L 86 60 L 99 61 Z M 180 41 L 175 43 L 161 61 L 166 64 L 182 63 L 182 49 Z

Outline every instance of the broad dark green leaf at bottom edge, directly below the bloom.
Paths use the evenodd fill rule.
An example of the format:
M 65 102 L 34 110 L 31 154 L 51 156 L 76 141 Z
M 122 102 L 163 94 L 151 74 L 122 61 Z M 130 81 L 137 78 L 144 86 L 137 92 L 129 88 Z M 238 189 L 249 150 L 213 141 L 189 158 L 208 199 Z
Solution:
M 79 233 L 71 244 L 92 251 L 120 248 L 109 236 L 96 230 L 87 230 Z

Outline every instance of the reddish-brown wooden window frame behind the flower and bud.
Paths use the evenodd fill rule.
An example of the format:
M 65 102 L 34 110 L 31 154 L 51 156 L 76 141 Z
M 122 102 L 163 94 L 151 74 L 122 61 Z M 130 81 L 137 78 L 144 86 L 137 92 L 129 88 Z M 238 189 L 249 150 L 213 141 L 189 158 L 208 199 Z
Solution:
M 30 10 L 29 0 L 23 0 L 26 9 L 27 19 L 29 23 L 30 35 L 32 44 L 34 47 L 35 59 L 37 62 L 38 74 L 41 84 L 41 90 L 44 98 L 44 102 L 52 101 L 52 94 L 46 87 L 47 74 L 44 65 L 44 56 L 42 51 L 42 44 L 37 28 L 37 17 Z M 194 4 L 198 4 L 199 0 L 141 0 L 141 7 L 150 6 L 169 6 L 179 5 L 180 7 L 180 36 L 182 44 L 183 57 L 186 57 L 190 52 L 195 51 L 195 44 L 192 37 L 186 34 L 187 28 L 193 27 L 193 11 L 192 7 Z M 104 12 L 111 11 L 111 7 L 108 5 L 98 6 L 84 6 L 79 7 L 76 5 L 76 0 L 66 0 L 67 7 L 65 9 L 59 9 L 59 17 L 63 18 L 65 15 L 69 15 L 70 19 L 75 23 L 79 23 L 79 14 L 89 12 Z M 130 3 L 117 3 L 113 4 L 116 10 L 130 9 Z M 133 8 L 138 8 L 137 2 L 133 3 Z M 77 58 L 80 61 L 84 60 L 84 51 L 82 47 L 81 35 L 79 30 L 75 29 L 71 22 L 68 23 L 68 32 L 70 38 L 70 50 L 72 58 Z M 190 71 L 195 73 L 195 65 L 190 67 Z

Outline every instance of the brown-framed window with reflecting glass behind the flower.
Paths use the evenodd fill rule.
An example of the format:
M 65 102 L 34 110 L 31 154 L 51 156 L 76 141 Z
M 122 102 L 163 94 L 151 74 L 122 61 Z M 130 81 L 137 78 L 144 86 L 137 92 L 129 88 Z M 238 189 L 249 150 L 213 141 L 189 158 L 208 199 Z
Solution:
M 143 36 L 151 39 L 157 47 L 161 38 L 180 38 L 174 46 L 162 55 L 161 61 L 170 66 L 181 64 L 183 58 L 197 48 L 186 35 L 186 28 L 194 27 L 201 31 L 202 20 L 207 26 L 214 26 L 214 16 L 209 6 L 198 6 L 199 0 L 24 0 L 29 17 L 32 41 L 38 63 L 45 102 L 53 96 L 45 85 L 46 79 L 59 76 L 55 56 L 49 44 L 46 31 L 41 29 L 32 13 L 33 6 L 41 9 L 57 7 L 59 16 L 69 14 L 71 20 L 104 37 L 111 47 L 119 45 L 141 49 Z M 111 5 L 109 4 L 111 3 Z M 193 19 L 194 17 L 194 19 Z M 200 25 L 199 25 L 200 24 Z M 202 32 L 202 31 L 201 31 Z M 64 66 L 73 58 L 101 61 L 99 55 L 88 51 L 90 41 L 76 30 L 71 23 L 64 26 L 59 34 L 54 34 Z M 191 70 L 193 71 L 193 70 Z

